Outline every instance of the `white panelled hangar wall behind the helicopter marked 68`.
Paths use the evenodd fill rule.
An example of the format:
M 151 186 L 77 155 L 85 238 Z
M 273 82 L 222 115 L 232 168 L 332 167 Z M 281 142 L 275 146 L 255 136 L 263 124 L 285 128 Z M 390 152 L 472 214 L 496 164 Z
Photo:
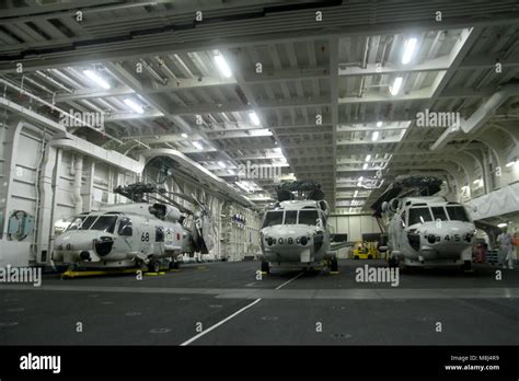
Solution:
M 132 165 L 136 161 L 130 158 L 127 158 L 128 165 L 120 162 L 113 165 L 73 149 L 54 147 L 48 143 L 53 141 L 51 130 L 19 119 L 2 124 L 0 139 L 0 266 L 50 265 L 53 241 L 58 233 L 56 227 L 59 228 L 74 213 L 99 210 L 105 205 L 128 203 L 128 199 L 115 194 L 113 189 L 141 178 L 135 171 L 137 166 Z M 84 140 L 80 142 L 89 145 Z M 122 157 L 101 148 L 99 151 L 101 157 L 108 158 L 112 152 Z M 122 168 L 134 169 L 134 172 Z M 257 212 L 241 207 L 239 212 L 245 216 L 247 223 L 235 227 L 231 218 L 222 215 L 226 203 L 223 197 L 187 180 L 175 183 L 169 178 L 165 186 L 171 192 L 195 195 L 209 205 L 216 233 L 210 258 L 241 261 L 245 256 L 257 254 L 260 247 L 253 244 L 258 242 L 261 216 Z M 176 200 L 188 206 L 184 199 Z M 238 211 L 231 208 L 230 212 Z M 14 234 L 13 223 L 10 231 L 10 218 L 16 223 L 20 221 L 19 227 L 23 221 L 26 234 Z M 222 235 L 223 230 L 230 230 L 232 236 Z M 239 234 L 249 236 L 246 244 L 237 243 Z

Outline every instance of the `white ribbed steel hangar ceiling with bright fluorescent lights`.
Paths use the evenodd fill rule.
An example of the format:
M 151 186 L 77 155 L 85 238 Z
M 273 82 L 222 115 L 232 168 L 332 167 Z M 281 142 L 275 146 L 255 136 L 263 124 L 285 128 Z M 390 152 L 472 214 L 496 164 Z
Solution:
M 321 183 L 347 213 L 413 171 L 472 186 L 481 150 L 519 139 L 516 1 L 2 7 L 3 101 L 56 122 L 58 109 L 102 113 L 104 130 L 71 131 L 129 154 L 174 148 L 258 204 L 276 182 L 237 178 L 247 162 Z M 420 127 L 426 109 L 459 113 L 463 128 Z

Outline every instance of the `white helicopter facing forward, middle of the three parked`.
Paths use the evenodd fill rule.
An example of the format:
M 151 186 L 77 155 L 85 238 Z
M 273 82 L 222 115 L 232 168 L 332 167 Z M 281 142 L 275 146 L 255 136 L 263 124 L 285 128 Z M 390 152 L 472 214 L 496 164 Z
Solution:
M 323 265 L 335 273 L 338 269 L 336 250 L 346 241 L 346 234 L 333 238 L 327 226 L 328 206 L 319 184 L 290 182 L 278 187 L 278 199 L 264 216 L 261 230 L 262 272 L 270 267 L 284 269 L 314 269 Z M 305 199 L 293 199 L 293 193 Z

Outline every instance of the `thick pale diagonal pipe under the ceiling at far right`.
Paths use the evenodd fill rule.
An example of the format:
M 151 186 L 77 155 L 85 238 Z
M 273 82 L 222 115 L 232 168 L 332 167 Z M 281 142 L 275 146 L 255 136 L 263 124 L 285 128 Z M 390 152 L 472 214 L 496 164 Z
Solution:
M 481 127 L 488 122 L 488 119 L 495 114 L 497 108 L 510 96 L 519 94 L 519 82 L 508 82 L 504 84 L 499 91 L 494 93 L 486 102 L 477 108 L 469 119 L 461 119 L 460 129 L 465 132 L 476 132 Z M 443 148 L 457 134 L 457 129 L 451 127 L 447 128 L 443 134 L 430 146 L 431 151 Z

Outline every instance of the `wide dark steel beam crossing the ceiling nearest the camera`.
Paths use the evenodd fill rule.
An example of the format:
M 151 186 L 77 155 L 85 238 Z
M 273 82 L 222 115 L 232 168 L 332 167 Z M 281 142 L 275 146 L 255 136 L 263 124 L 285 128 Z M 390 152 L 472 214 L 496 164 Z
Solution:
M 401 5 L 400 5 L 401 7 Z M 407 8 L 413 7 L 412 3 L 406 3 Z M 448 4 L 443 3 L 442 9 L 448 13 Z M 494 5 L 495 9 L 495 5 Z M 188 38 L 189 32 L 183 33 L 183 37 L 172 37 L 169 33 L 154 34 L 154 35 L 143 35 L 138 38 L 127 38 L 126 41 L 120 42 L 117 46 L 114 44 L 99 44 L 94 45 L 95 49 L 92 49 L 91 46 L 74 48 L 70 44 L 70 39 L 64 41 L 62 46 L 70 45 L 70 51 L 62 51 L 53 54 L 39 54 L 31 58 L 19 59 L 12 58 L 4 60 L 0 64 L 0 71 L 14 72 L 16 67 L 15 62 L 24 62 L 24 70 L 32 71 L 37 69 L 45 69 L 49 67 L 58 68 L 65 66 L 77 66 L 85 65 L 93 62 L 103 62 L 112 60 L 129 60 L 129 59 L 140 59 L 149 56 L 157 56 L 160 54 L 168 53 L 187 53 L 187 51 L 197 51 L 206 50 L 211 48 L 232 48 L 244 46 L 274 43 L 282 44 L 284 42 L 308 42 L 314 39 L 328 38 L 331 36 L 355 36 L 355 35 L 381 35 L 381 34 L 394 34 L 402 32 L 404 24 L 402 22 L 384 22 L 384 12 L 379 12 L 379 22 L 378 23 L 365 23 L 365 24 L 348 24 L 345 23 L 345 20 L 350 16 L 350 10 L 348 7 L 338 8 L 338 11 L 335 11 L 334 16 L 324 18 L 320 28 L 316 28 L 315 25 L 308 23 L 305 18 L 302 18 L 299 24 L 286 23 L 286 14 L 277 15 L 277 18 L 268 18 L 269 24 L 278 25 L 276 33 L 269 33 L 265 31 L 270 31 L 266 28 L 265 23 L 257 23 L 256 32 L 253 32 L 249 25 L 249 33 L 245 35 L 239 30 L 235 30 L 234 34 L 229 34 L 229 28 L 227 28 L 227 37 L 222 39 L 222 43 L 215 44 L 215 41 L 209 38 L 211 35 L 211 30 L 207 28 L 207 33 L 200 35 L 199 38 L 192 37 Z M 470 12 L 469 12 L 470 13 Z M 164 14 L 160 14 L 161 19 Z M 299 15 L 300 16 L 300 15 Z M 468 26 L 493 26 L 493 25 L 508 25 L 517 23 L 516 15 L 512 11 L 503 11 L 495 12 L 492 14 L 492 18 L 487 20 L 478 19 L 474 20 L 471 18 L 450 18 L 445 20 L 441 23 L 436 22 L 434 18 L 429 18 L 430 21 L 410 19 L 405 22 L 405 28 L 412 28 L 416 31 L 438 31 L 438 30 L 448 30 L 448 28 L 460 28 Z M 304 20 L 304 21 L 303 21 Z M 263 21 L 266 21 L 264 19 Z M 302 24 L 301 24 L 302 22 Z M 298 35 L 293 33 L 288 33 L 287 30 L 299 31 Z M 194 28 L 198 34 L 198 28 Z M 302 32 L 304 31 L 304 32 Z M 212 32 L 212 37 L 217 38 L 215 32 Z M 47 43 L 47 42 L 46 42 Z M 48 46 L 47 46 L 48 47 Z M 12 51 L 12 50 L 11 50 Z

